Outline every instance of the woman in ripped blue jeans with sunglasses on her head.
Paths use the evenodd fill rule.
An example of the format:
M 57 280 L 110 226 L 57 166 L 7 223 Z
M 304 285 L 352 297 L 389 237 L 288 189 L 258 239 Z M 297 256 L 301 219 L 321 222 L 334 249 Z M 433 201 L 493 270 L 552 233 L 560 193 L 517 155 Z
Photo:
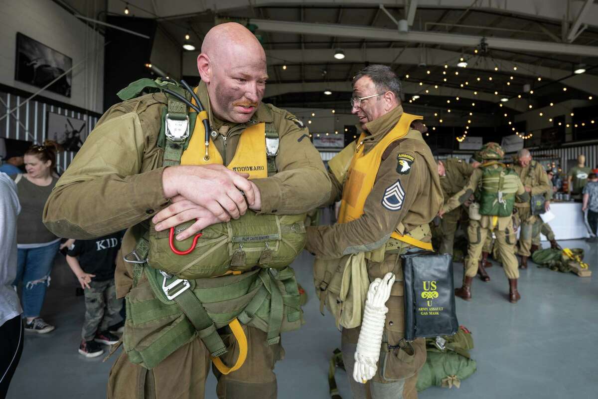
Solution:
M 56 142 L 32 145 L 25 151 L 25 175 L 17 175 L 16 183 L 22 212 L 17 221 L 19 263 L 14 285 L 23 282 L 22 303 L 25 313 L 25 331 L 45 334 L 54 330 L 41 317 L 45 290 L 50 285 L 50 271 L 60 239 L 50 233 L 42 223 L 45 201 L 58 180 L 54 176 Z

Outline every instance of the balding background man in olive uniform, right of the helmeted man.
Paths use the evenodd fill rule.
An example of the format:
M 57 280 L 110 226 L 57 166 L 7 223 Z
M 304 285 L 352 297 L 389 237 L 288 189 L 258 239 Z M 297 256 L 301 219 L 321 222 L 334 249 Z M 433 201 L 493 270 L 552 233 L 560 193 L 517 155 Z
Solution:
M 525 190 L 530 196 L 544 194 L 548 190 L 552 190 L 548 176 L 540 163 L 532 160 L 532 154 L 529 150 L 522 148 L 517 153 L 517 162 L 513 166 L 515 172 L 523 182 Z M 539 216 L 532 215 L 530 209 L 530 202 L 515 203 L 517 207 L 517 218 L 519 219 L 520 233 L 519 233 L 519 250 L 521 255 L 521 269 L 527 269 L 527 258 L 532 255 L 532 239 L 534 224 L 538 221 Z

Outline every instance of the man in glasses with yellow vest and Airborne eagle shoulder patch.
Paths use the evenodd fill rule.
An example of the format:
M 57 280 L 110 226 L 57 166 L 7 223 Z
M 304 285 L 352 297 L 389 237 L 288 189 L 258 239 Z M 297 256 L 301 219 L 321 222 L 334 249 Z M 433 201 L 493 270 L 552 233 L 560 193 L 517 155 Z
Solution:
M 307 228 L 306 249 L 318 259 L 364 256 L 359 270 L 364 271 L 361 278 L 365 281 L 357 284 L 367 288 L 387 273 L 396 277 L 386 301 L 389 311 L 380 361 L 370 382 L 358 383 L 352 377 L 360 327 L 347 327 L 337 319 L 337 325 L 343 327 L 341 351 L 353 398 L 416 398 L 417 372 L 426 360 L 423 339 L 412 345 L 404 340 L 401 254 L 414 248 L 432 249 L 429 222 L 440 209 L 443 196 L 434 157 L 416 130 L 419 124 L 416 129 L 411 127 L 422 117 L 403 112 L 400 95 L 400 83 L 388 66 L 370 65 L 355 75 L 352 114 L 359 118 L 362 133 L 328 163 L 332 180 L 329 203 L 341 200 L 338 223 Z M 316 290 L 324 292 L 332 283 L 318 264 Z M 352 281 L 356 279 L 358 276 L 352 275 Z M 356 325 L 360 324 L 358 315 Z

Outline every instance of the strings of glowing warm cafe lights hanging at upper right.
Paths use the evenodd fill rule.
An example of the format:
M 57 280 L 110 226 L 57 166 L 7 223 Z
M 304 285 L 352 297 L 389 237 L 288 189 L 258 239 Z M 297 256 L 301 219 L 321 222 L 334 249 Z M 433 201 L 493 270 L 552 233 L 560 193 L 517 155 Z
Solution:
M 475 54 L 477 54 L 477 53 L 478 53 L 478 49 L 477 49 L 477 48 L 475 48 L 475 50 L 474 50 L 474 53 L 475 53 Z M 472 57 L 473 57 L 473 56 L 472 56 Z M 470 59 L 471 59 L 471 58 L 470 58 Z M 491 59 L 492 59 L 492 58 L 491 58 Z M 476 60 L 476 62 L 475 62 L 475 64 L 474 64 L 474 67 L 475 67 L 475 66 L 478 64 L 478 62 L 480 62 L 480 60 L 481 60 L 481 58 L 480 58 L 480 57 L 478 57 L 478 59 Z M 452 62 L 451 62 L 451 61 L 452 61 Z M 447 69 L 449 69 L 449 63 L 454 63 L 454 61 L 455 61 L 455 59 L 453 58 L 453 59 L 451 59 L 451 60 L 447 60 L 447 61 L 446 61 L 446 63 L 444 64 L 444 70 L 443 70 L 443 75 L 444 75 L 444 78 L 443 78 L 443 81 L 444 81 L 445 83 L 447 83 L 447 81 L 448 81 L 448 79 L 447 79 L 447 77 L 446 77 L 446 76 L 447 76 Z M 486 58 L 486 57 L 484 57 L 484 62 L 488 62 L 488 60 L 487 60 L 487 58 Z M 494 69 L 494 71 L 498 72 L 498 71 L 499 71 L 499 69 L 501 69 L 501 68 L 499 68 L 499 66 L 500 66 L 499 64 L 500 64 L 500 63 L 496 62 L 496 60 L 494 60 L 494 59 L 492 59 L 492 62 L 494 63 L 494 68 L 493 68 L 493 69 Z M 458 67 L 458 68 L 466 68 L 467 66 L 468 66 L 468 62 L 467 62 L 467 60 L 465 59 L 465 56 L 462 56 L 462 57 L 460 57 L 460 58 L 459 58 L 459 62 L 457 63 L 457 67 Z M 520 67 L 518 67 L 517 65 L 514 65 L 514 66 L 512 66 L 512 69 L 513 69 L 513 71 L 517 71 L 517 70 L 518 70 L 518 68 L 520 68 Z M 489 69 L 492 69 L 492 68 L 489 68 Z M 525 69 L 525 68 L 523 68 L 523 69 Z M 529 72 L 532 72 L 532 71 L 529 71 Z M 577 71 L 576 71 L 576 73 L 583 73 L 583 72 L 585 72 L 585 70 L 582 70 L 582 72 L 577 72 Z M 428 74 L 428 75 L 430 75 L 431 73 L 432 73 L 432 72 L 431 72 L 429 69 L 426 71 L 426 74 Z M 457 70 L 457 71 L 454 71 L 454 75 L 455 75 L 455 76 L 458 76 L 458 75 L 459 75 L 459 71 L 458 71 L 458 70 Z M 409 75 L 408 75 L 408 74 L 407 74 L 407 75 L 405 75 L 405 77 L 404 77 L 404 78 L 405 78 L 405 80 L 408 80 L 408 79 L 409 79 Z M 536 77 L 536 79 L 537 79 L 537 81 L 542 81 L 542 77 L 539 77 L 539 76 L 538 76 L 538 77 Z M 482 78 L 481 78 L 480 76 L 478 76 L 478 77 L 476 77 L 476 78 L 475 78 L 475 81 L 481 81 L 481 80 L 482 80 Z M 489 81 L 495 81 L 495 77 L 493 77 L 492 75 L 490 75 L 490 76 L 488 77 L 488 80 L 489 80 Z M 514 77 L 513 77 L 512 75 L 510 75 L 510 76 L 509 76 L 509 78 L 508 78 L 508 80 L 507 80 L 507 82 L 506 82 L 507 86 L 511 86 L 511 81 L 512 81 L 512 80 L 514 80 Z M 409 100 L 409 102 L 410 102 L 410 103 L 413 103 L 414 101 L 416 101 L 417 99 L 419 99 L 419 98 L 420 98 L 420 95 L 419 95 L 419 94 L 423 94 L 424 92 L 425 92 L 426 94 L 428 94 L 428 93 L 429 93 L 429 92 L 432 90 L 432 87 L 434 87 L 434 89 L 438 90 L 438 84 L 427 84 L 427 86 L 426 86 L 426 87 L 424 87 L 424 83 L 423 83 L 423 81 L 419 81 L 419 86 L 421 87 L 421 89 L 420 89 L 420 92 L 416 93 L 415 95 L 413 95 L 413 96 L 411 97 L 411 99 Z M 473 92 L 473 94 L 474 94 L 475 96 L 477 96 L 477 95 L 478 95 L 478 90 L 476 90 L 476 89 L 469 89 L 469 87 L 470 87 L 470 86 L 469 86 L 469 81 L 467 81 L 467 80 L 465 80 L 465 81 L 462 81 L 462 82 L 459 84 L 459 87 L 460 87 L 460 89 L 456 89 L 456 90 L 457 90 L 457 92 L 458 92 L 459 90 L 470 90 L 470 91 L 472 91 L 472 92 Z M 449 89 L 450 89 L 450 88 L 449 88 Z M 566 90 L 567 90 L 567 87 L 563 87 L 563 91 L 565 91 L 565 92 L 566 92 Z M 527 92 L 527 93 L 526 93 L 525 91 L 524 91 L 524 92 L 521 92 L 520 94 L 518 94 L 518 95 L 516 96 L 516 98 L 518 98 L 518 99 L 521 99 L 521 98 L 523 98 L 522 94 L 523 94 L 523 96 L 525 96 L 526 94 L 529 94 L 529 96 L 527 96 L 527 100 L 529 101 L 529 100 L 531 99 L 531 96 L 533 95 L 533 90 L 532 90 L 532 89 L 530 89 L 530 90 L 529 90 L 529 92 Z M 495 92 L 494 92 L 494 95 L 495 95 L 495 96 L 499 96 L 499 92 L 498 92 L 498 90 L 495 90 Z M 515 98 L 515 96 L 512 96 L 511 98 Z M 500 107 L 502 107 L 502 106 L 503 106 L 503 103 L 504 103 L 504 102 L 507 102 L 507 101 L 508 101 L 509 99 L 511 99 L 511 98 L 508 98 L 507 96 L 502 96 L 502 97 L 501 97 L 501 99 L 500 99 L 500 102 L 498 103 L 498 104 L 499 104 L 499 106 L 500 106 Z M 588 96 L 588 99 L 589 99 L 589 100 L 592 100 L 592 99 L 593 99 L 593 97 L 592 97 L 592 96 Z M 454 100 L 456 100 L 456 101 L 459 101 L 459 100 L 460 100 L 459 96 L 458 96 L 458 95 L 456 95 L 456 96 L 455 96 L 455 98 L 454 98 Z M 449 99 L 449 100 L 447 100 L 447 103 L 449 103 L 449 104 L 450 104 L 450 99 Z M 550 103 L 550 106 L 553 106 L 553 105 L 554 105 L 554 103 Z M 471 103 L 471 106 L 475 106 L 475 102 L 472 102 L 472 103 Z M 528 105 L 527 105 L 527 106 L 528 106 L 528 108 L 529 108 L 529 109 L 533 109 L 533 105 L 532 105 L 531 103 L 528 103 Z M 447 108 L 446 112 L 447 112 L 447 113 L 451 113 L 451 109 L 450 109 L 450 108 Z M 504 115 L 505 115 L 505 117 L 508 117 L 508 114 L 506 114 L 506 113 L 505 113 Z M 440 117 L 439 117 L 439 115 L 438 115 L 438 112 L 435 112 L 435 113 L 434 113 L 434 116 L 439 118 L 439 119 L 438 119 L 438 123 L 443 123 L 442 116 L 440 116 Z M 466 138 L 466 136 L 467 136 L 467 133 L 468 133 L 468 130 L 469 130 L 469 126 L 470 126 L 470 124 L 471 124 L 471 117 L 472 117 L 472 116 L 473 116 L 472 112 L 469 112 L 469 117 L 470 117 L 470 118 L 468 118 L 468 123 L 465 125 L 465 130 L 463 131 L 463 135 L 462 135 L 462 136 L 457 136 L 457 137 L 456 137 L 456 140 L 457 140 L 457 141 L 459 141 L 459 142 L 462 142 L 463 140 L 465 140 L 465 138 Z M 542 116 L 542 112 L 540 112 L 540 116 Z M 572 112 L 571 112 L 571 116 L 573 116 L 573 113 L 572 113 Z M 549 118 L 548 120 L 549 120 L 549 121 L 552 121 L 553 119 L 552 119 L 552 118 Z M 573 126 L 575 126 L 575 127 L 578 127 L 578 126 L 586 126 L 586 124 L 594 124 L 594 123 L 596 123 L 596 121 L 595 121 L 595 120 L 591 120 L 591 121 L 583 121 L 583 122 L 579 122 L 579 123 L 573 124 Z M 514 121 L 508 121 L 508 125 L 509 125 L 509 126 L 512 126 L 513 124 L 514 124 Z M 563 124 L 562 122 L 559 122 L 559 126 L 562 126 L 562 124 Z M 570 126 L 570 124 L 566 124 L 566 127 L 569 127 L 569 126 Z M 436 129 L 435 129 L 435 127 L 432 127 L 432 130 L 436 130 Z M 512 126 L 512 127 L 511 127 L 511 130 L 512 130 L 512 131 L 515 133 L 515 135 L 517 135 L 518 137 L 520 137 L 521 139 L 524 139 L 524 140 L 525 140 L 525 139 L 529 139 L 529 138 L 532 138 L 532 137 L 533 137 L 533 133 L 531 133 L 531 132 L 529 132 L 529 133 L 518 132 L 518 131 L 517 131 L 517 129 L 515 129 L 515 127 L 514 127 L 514 126 Z

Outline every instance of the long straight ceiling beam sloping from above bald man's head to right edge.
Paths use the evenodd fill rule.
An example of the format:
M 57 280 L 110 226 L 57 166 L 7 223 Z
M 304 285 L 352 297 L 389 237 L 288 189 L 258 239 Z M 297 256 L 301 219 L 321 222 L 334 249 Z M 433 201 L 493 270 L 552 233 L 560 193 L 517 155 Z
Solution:
M 415 42 L 419 44 L 442 44 L 462 47 L 476 47 L 483 36 L 461 35 L 457 33 L 437 33 L 410 31 L 400 33 L 395 29 L 372 28 L 370 26 L 332 25 L 325 23 L 306 23 L 250 19 L 263 32 L 285 32 L 322 36 L 366 38 Z M 598 57 L 598 47 L 565 43 L 541 42 L 508 38 L 485 38 L 490 49 L 521 50 L 531 53 L 566 54 L 569 56 Z

